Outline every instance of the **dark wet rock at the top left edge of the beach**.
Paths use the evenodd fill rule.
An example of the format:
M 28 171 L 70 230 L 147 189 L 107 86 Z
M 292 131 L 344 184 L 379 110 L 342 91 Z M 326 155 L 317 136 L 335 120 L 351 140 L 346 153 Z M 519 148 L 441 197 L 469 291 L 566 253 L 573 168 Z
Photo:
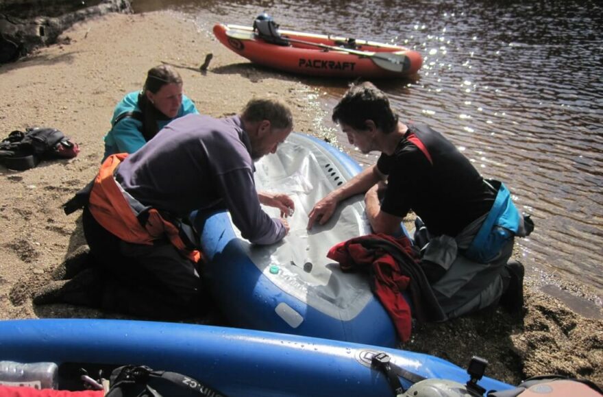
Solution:
M 0 0 L 0 63 L 12 62 L 37 47 L 55 44 L 60 34 L 76 22 L 109 12 L 132 12 L 128 0 L 103 0 L 97 5 L 64 14 L 60 14 L 61 8 L 47 12 L 30 6 L 29 15 L 32 9 L 39 10 L 40 14 L 23 18 L 23 6 L 27 4 L 27 1 Z M 58 16 L 47 16 L 57 13 Z

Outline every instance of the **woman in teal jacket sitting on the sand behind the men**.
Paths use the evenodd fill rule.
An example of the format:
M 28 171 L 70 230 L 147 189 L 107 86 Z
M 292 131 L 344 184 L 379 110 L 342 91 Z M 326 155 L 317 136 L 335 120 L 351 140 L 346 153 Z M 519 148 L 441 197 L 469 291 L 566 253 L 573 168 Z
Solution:
M 180 74 L 164 64 L 149 69 L 143 91 L 125 95 L 115 107 L 103 160 L 111 154 L 136 152 L 167 123 L 189 113 L 199 112 L 182 93 Z

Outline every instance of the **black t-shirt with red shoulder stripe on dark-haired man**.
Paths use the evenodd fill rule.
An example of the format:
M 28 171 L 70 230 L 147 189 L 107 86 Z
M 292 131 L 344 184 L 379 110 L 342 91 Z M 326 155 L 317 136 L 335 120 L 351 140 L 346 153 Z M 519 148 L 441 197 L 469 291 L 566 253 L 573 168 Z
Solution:
M 394 154 L 382 154 L 377 167 L 388 176 L 381 209 L 398 217 L 413 210 L 434 235 L 456 236 L 495 199 L 471 162 L 427 125 L 409 125 Z

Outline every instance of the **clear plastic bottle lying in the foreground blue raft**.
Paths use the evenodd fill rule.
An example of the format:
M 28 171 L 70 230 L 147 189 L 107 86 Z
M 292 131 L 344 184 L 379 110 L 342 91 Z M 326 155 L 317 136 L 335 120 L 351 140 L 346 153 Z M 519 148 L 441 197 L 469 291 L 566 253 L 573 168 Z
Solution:
M 0 361 L 0 385 L 58 389 L 58 365 Z

